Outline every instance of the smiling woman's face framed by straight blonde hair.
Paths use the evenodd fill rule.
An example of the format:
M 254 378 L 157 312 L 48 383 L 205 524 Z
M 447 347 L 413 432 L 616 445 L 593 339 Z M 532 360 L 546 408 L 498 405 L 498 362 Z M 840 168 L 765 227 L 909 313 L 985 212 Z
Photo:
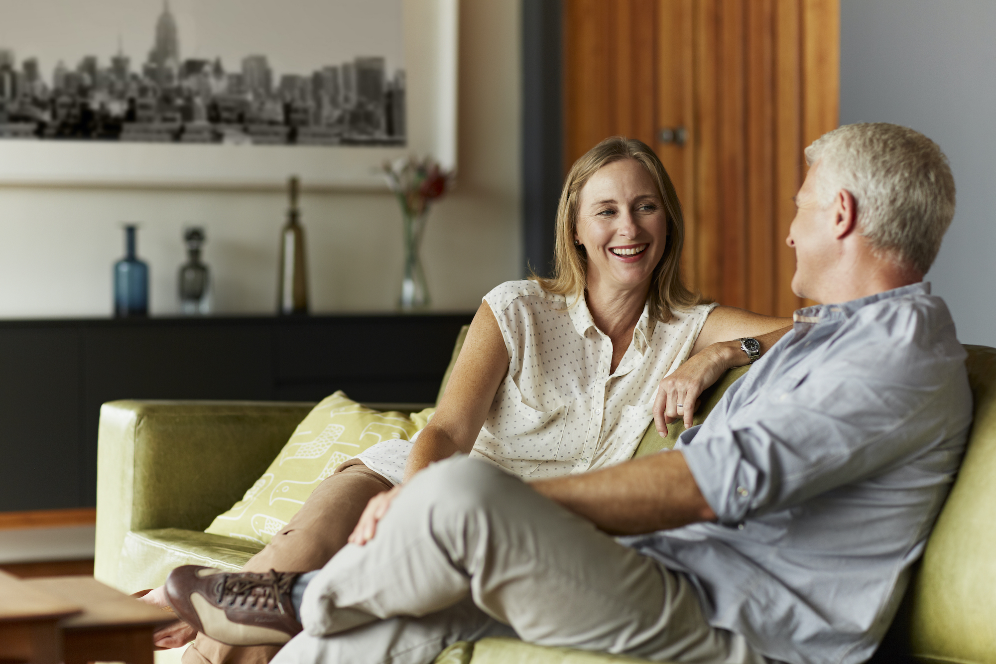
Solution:
M 602 166 L 581 189 L 575 239 L 588 252 L 588 287 L 649 286 L 664 253 L 667 213 L 635 160 Z

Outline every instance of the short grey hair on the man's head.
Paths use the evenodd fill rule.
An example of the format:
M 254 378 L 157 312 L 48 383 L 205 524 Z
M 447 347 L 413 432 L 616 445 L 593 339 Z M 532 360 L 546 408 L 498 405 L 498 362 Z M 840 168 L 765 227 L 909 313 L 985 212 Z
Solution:
M 847 189 L 858 231 L 876 252 L 923 274 L 930 269 L 954 217 L 954 177 L 937 144 L 897 125 L 845 125 L 806 149 L 806 163 L 817 162 L 821 204 Z

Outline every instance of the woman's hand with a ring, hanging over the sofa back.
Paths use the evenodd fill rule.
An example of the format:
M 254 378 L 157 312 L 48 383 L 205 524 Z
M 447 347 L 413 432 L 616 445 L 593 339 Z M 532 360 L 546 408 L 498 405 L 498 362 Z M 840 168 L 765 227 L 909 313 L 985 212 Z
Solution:
M 667 436 L 667 425 L 684 420 L 685 429 L 699 407 L 699 396 L 730 368 L 727 344 L 713 344 L 692 355 L 674 373 L 660 381 L 653 400 L 653 423 L 657 433 Z M 737 347 L 739 351 L 739 344 Z

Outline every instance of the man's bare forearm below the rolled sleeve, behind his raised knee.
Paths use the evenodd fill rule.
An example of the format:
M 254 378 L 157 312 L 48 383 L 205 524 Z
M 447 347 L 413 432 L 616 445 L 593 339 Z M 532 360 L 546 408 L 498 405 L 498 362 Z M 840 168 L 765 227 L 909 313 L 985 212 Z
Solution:
M 716 518 L 680 452 L 530 484 L 611 534 L 640 534 Z

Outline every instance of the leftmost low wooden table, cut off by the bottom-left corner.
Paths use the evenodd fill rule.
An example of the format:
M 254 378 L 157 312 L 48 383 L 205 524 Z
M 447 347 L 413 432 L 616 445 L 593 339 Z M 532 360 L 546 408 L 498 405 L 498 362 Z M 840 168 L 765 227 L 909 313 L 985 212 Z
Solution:
M 0 660 L 58 664 L 63 660 L 59 622 L 81 611 L 72 600 L 0 571 Z

